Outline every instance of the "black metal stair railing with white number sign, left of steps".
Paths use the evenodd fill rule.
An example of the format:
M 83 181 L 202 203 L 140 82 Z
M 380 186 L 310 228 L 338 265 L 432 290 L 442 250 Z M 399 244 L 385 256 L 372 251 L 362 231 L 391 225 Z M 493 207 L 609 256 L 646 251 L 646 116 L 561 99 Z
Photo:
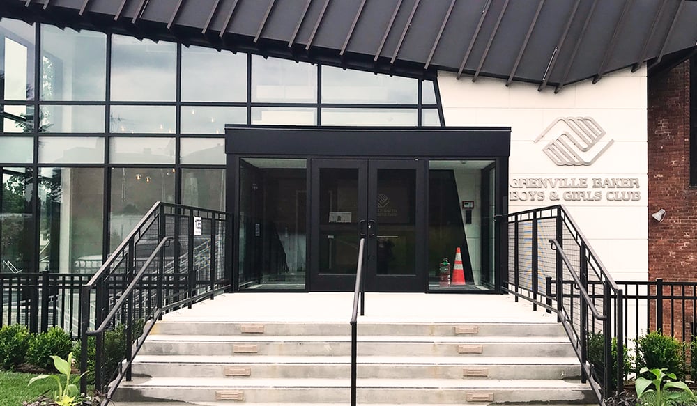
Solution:
M 162 314 L 231 287 L 226 221 L 224 212 L 158 202 L 118 245 L 82 287 L 80 391 L 93 377 L 108 403 Z

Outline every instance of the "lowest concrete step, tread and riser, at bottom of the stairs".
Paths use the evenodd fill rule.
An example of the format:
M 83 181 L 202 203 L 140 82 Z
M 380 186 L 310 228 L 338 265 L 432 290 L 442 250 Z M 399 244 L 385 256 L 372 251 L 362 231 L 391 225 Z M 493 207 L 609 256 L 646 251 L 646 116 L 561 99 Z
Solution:
M 236 382 L 237 383 L 237 382 Z M 114 400 L 169 398 L 192 402 L 243 400 L 247 403 L 345 403 L 348 380 L 254 379 L 231 385 L 230 380 L 152 378 L 122 382 Z M 359 403 L 592 403 L 588 385 L 564 380 L 358 380 Z M 174 390 L 176 388 L 176 390 Z

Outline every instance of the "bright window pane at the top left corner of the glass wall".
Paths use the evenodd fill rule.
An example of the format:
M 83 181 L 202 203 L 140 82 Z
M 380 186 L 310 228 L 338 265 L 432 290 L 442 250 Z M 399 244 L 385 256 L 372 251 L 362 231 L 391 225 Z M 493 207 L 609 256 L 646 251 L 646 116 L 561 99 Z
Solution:
M 0 99 L 34 98 L 34 26 L 17 19 L 0 19 Z

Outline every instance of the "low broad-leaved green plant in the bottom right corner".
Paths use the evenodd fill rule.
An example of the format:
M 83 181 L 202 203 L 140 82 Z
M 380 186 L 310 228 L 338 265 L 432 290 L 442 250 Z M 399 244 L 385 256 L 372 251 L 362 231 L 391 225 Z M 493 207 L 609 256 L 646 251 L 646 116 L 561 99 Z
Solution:
M 672 405 L 684 396 L 694 401 L 694 393 L 687 387 L 687 384 L 676 381 L 677 377 L 675 377 L 675 374 L 665 373 L 665 370 L 666 368 L 649 369 L 646 367 L 639 370 L 641 375 L 653 375 L 652 379 L 647 379 L 643 376 L 636 378 L 634 387 L 636 388 L 636 398 L 639 402 L 642 405 L 665 406 Z

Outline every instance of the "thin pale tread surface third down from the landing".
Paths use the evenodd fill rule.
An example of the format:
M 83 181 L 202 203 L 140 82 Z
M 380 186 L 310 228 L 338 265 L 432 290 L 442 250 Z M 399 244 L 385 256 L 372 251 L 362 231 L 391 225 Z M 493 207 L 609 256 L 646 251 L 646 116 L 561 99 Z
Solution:
M 589 389 L 588 384 L 566 380 L 456 380 L 456 379 L 383 379 L 359 378 L 360 389 Z M 134 377 L 122 381 L 120 387 L 178 388 L 337 388 L 348 389 L 348 378 L 197 378 L 197 377 Z

